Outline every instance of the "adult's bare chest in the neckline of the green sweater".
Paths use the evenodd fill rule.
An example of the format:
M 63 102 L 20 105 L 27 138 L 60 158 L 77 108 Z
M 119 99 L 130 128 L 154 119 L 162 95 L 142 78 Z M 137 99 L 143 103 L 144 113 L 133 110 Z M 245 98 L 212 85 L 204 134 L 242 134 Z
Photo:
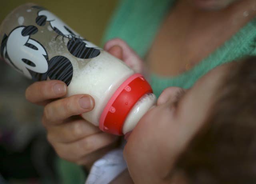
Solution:
M 202 12 L 177 4 L 167 16 L 147 54 L 151 72 L 176 76 L 189 70 L 230 39 L 254 15 L 242 10 Z M 214 61 L 212 61 L 214 62 Z

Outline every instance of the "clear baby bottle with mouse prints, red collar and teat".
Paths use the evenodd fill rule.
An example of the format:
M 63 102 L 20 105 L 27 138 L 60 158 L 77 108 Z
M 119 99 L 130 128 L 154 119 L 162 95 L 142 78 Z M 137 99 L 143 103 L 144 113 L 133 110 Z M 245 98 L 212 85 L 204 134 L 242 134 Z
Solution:
M 62 80 L 67 96 L 91 95 L 95 107 L 81 116 L 104 132 L 130 132 L 156 103 L 141 74 L 35 4 L 19 6 L 4 19 L 0 56 L 30 79 Z

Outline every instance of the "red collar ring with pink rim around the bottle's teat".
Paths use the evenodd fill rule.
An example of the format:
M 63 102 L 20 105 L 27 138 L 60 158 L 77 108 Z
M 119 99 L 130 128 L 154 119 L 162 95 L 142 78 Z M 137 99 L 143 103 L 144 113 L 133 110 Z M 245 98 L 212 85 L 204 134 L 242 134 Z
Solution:
M 141 74 L 133 74 L 116 90 L 101 116 L 99 127 L 114 135 L 123 135 L 122 126 L 136 102 L 147 93 L 152 93 L 150 84 Z

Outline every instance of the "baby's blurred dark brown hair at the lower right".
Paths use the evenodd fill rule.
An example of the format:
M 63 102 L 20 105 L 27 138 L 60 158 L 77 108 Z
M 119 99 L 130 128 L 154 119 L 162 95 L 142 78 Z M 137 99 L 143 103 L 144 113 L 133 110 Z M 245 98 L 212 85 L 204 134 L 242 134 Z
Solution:
M 256 57 L 235 62 L 176 168 L 191 184 L 256 183 Z

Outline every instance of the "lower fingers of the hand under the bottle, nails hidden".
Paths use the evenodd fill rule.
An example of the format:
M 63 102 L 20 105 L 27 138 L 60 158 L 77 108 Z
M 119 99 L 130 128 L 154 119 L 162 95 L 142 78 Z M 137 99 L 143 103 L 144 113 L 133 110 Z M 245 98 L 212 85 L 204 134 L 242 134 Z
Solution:
M 120 139 L 79 116 L 72 116 L 60 125 L 47 126 L 47 130 L 48 141 L 61 158 L 88 169 L 106 152 L 116 148 Z

